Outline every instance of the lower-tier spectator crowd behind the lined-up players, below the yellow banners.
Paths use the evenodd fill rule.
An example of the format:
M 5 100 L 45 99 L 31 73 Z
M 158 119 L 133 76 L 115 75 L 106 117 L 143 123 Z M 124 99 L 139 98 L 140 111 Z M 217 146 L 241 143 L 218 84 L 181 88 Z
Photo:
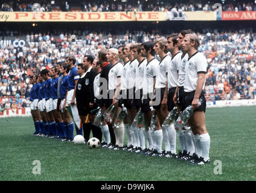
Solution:
M 8 107 L 7 101 L 10 106 L 14 101 L 17 106 L 29 106 L 30 73 L 39 72 L 45 66 L 51 67 L 66 55 L 75 55 L 77 63 L 82 63 L 84 55 L 95 55 L 101 48 L 155 41 L 167 35 L 135 31 L 117 36 L 74 30 L 58 36 L 27 34 L 22 48 L 12 44 L 0 45 L 1 106 Z M 199 51 L 208 59 L 205 92 L 210 100 L 256 98 L 256 34 L 243 30 L 219 33 L 216 30 L 197 35 L 201 42 Z

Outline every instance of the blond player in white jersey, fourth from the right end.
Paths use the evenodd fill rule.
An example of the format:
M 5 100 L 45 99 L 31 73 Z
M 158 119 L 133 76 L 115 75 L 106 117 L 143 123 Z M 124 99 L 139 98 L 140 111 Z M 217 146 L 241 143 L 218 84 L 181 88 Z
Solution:
M 165 39 L 158 39 L 155 42 L 155 52 L 160 57 L 159 62 L 159 78 L 156 79 L 156 90 L 161 94 L 161 98 L 159 99 L 160 103 L 158 106 L 155 106 L 156 109 L 156 115 L 158 117 L 158 122 L 156 126 L 158 127 L 158 135 L 161 136 L 161 138 L 164 139 L 165 144 L 165 150 L 162 152 L 162 155 L 165 157 L 170 157 L 171 153 L 175 153 L 176 151 L 176 133 L 174 131 L 173 133 L 168 134 L 168 131 L 171 131 L 171 127 L 161 127 L 162 123 L 164 122 L 165 118 L 168 115 L 167 111 L 167 104 L 168 104 L 168 81 L 167 81 L 167 75 L 168 75 L 168 69 L 170 69 L 171 65 L 171 57 L 167 55 L 167 49 L 165 45 L 167 44 L 167 40 Z M 170 136 L 169 136 L 170 135 Z M 174 140 L 173 140 L 174 138 Z M 160 139 L 160 138 L 159 138 Z M 171 148 L 170 148 L 171 143 Z

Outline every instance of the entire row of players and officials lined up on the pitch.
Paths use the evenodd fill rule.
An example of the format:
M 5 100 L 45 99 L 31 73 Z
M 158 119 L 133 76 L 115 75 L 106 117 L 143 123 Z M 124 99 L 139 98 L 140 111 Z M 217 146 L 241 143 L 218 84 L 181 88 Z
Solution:
M 43 90 L 42 87 L 45 87 L 44 84 L 50 80 L 48 76 L 50 75 L 53 79 L 48 86 L 46 84 L 46 87 L 50 88 L 52 96 L 48 94 L 49 91 L 45 91 L 45 97 L 38 97 L 38 104 L 36 104 L 37 100 L 33 101 L 34 106 L 31 110 L 33 113 L 36 112 L 38 106 L 42 121 L 46 123 L 44 125 L 46 127 L 57 125 L 55 133 L 51 134 L 57 133 L 63 140 L 65 134 L 69 141 L 72 140 L 74 126 L 67 110 L 69 109 L 76 122 L 75 125 L 78 126 L 76 126 L 77 134 L 82 131 L 78 129 L 82 122 L 85 139 L 89 139 L 91 130 L 93 136 L 100 140 L 103 135 L 102 147 L 135 151 L 150 156 L 178 157 L 199 165 L 209 163 L 210 136 L 205 126 L 206 100 L 202 91 L 207 63 L 203 54 L 197 51 L 198 46 L 199 39 L 196 34 L 190 30 L 182 30 L 179 34 L 171 34 L 167 40 L 161 38 L 155 43 L 144 42 L 141 45 L 129 43 L 118 49 L 101 49 L 97 59 L 94 60 L 90 55 L 86 55 L 77 69 L 75 58 L 67 57 L 66 63 L 58 64 L 60 68 L 56 66 L 50 69 L 48 74 L 45 73 L 46 70 L 40 72 L 38 81 L 42 83 L 39 93 Z M 167 52 L 170 52 L 172 57 Z M 155 59 L 156 54 L 159 55 L 160 61 Z M 59 84 L 56 83 L 58 71 L 63 74 Z M 62 96 L 59 96 L 60 105 L 56 95 L 58 93 L 56 84 L 60 85 L 59 90 L 62 93 L 60 94 Z M 65 91 L 67 91 L 66 95 Z M 201 105 L 199 98 L 202 100 Z M 92 125 L 95 115 L 91 111 L 100 106 L 102 112 L 105 112 L 111 104 L 117 107 L 112 122 L 115 121 L 122 104 L 127 108 L 128 117 L 124 120 L 123 127 L 115 129 L 106 121 L 100 128 Z M 189 105 L 193 106 L 194 113 L 188 121 L 189 124 L 179 133 L 181 151 L 176 154 L 174 125 L 162 127 L 162 123 L 174 106 L 182 112 Z M 149 128 L 145 130 L 134 128 L 131 123 L 139 109 L 150 125 L 152 118 L 150 106 L 156 110 L 155 130 L 152 132 Z M 40 121 L 37 119 L 34 119 L 35 125 Z M 37 125 L 36 128 L 39 127 Z M 125 146 L 124 130 L 127 134 Z M 48 131 L 54 131 L 54 128 Z M 164 151 L 162 151 L 162 141 L 165 144 Z

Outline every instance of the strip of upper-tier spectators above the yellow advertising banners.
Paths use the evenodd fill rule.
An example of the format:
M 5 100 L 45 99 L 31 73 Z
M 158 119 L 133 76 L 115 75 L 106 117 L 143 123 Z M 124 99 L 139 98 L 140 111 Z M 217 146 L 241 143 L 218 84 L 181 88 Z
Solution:
M 213 11 L 218 1 L 37 1 L 39 11 Z M 223 11 L 256 11 L 254 1 L 219 1 Z M 0 11 L 34 11 L 33 1 L 3 1 Z

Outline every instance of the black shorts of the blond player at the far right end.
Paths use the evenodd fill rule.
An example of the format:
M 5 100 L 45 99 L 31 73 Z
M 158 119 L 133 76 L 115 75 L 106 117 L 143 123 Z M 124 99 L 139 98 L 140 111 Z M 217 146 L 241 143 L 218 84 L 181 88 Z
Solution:
M 184 109 L 186 109 L 188 106 L 190 106 L 192 104 L 192 101 L 194 99 L 194 93 L 196 91 L 192 91 L 192 92 L 184 92 Z M 205 99 L 205 93 L 202 91 L 200 96 L 199 96 L 199 100 L 202 99 L 202 104 L 199 106 L 199 108 L 197 110 L 194 111 L 203 111 L 205 112 L 206 110 L 206 99 Z

